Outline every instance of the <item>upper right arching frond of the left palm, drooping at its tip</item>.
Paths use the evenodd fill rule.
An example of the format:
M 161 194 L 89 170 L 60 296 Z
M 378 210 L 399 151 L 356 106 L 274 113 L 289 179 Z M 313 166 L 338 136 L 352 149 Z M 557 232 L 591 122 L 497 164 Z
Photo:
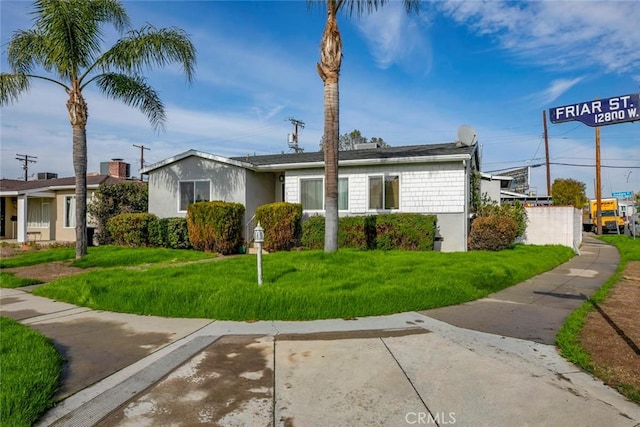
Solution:
M 133 30 L 99 59 L 104 71 L 120 70 L 124 73 L 141 73 L 153 66 L 179 63 L 191 81 L 196 62 L 196 50 L 189 36 L 178 28 L 156 29 L 147 25 Z

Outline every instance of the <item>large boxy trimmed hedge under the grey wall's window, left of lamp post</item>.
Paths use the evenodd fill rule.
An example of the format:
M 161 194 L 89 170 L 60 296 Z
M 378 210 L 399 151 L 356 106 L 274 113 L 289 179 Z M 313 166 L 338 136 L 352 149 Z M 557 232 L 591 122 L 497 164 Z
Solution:
M 194 248 L 223 255 L 235 253 L 242 242 L 244 206 L 213 201 L 187 208 L 187 228 Z

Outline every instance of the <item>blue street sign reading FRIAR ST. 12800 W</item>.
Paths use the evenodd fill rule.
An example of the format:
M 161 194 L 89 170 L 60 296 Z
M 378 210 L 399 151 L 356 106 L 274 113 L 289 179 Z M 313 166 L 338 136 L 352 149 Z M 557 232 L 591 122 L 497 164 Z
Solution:
M 640 94 L 580 102 L 549 109 L 551 123 L 579 121 L 598 127 L 640 120 Z

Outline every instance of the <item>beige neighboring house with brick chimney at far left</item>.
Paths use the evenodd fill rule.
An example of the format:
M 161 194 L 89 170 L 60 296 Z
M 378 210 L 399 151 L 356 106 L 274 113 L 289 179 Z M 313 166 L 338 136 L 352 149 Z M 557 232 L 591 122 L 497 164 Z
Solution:
M 110 174 L 87 175 L 87 203 L 103 183 L 125 179 L 124 162 L 109 162 Z M 41 174 L 45 178 L 53 174 Z M 0 239 L 75 242 L 75 177 L 35 181 L 0 180 Z M 90 218 L 88 218 L 90 220 Z M 88 224 L 92 226 L 91 223 Z

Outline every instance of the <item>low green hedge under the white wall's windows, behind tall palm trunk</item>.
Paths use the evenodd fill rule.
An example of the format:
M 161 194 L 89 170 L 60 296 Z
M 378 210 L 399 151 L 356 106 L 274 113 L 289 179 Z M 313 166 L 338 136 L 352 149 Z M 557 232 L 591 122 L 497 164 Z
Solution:
M 431 251 L 435 233 L 435 215 L 399 213 L 343 217 L 338 221 L 338 246 Z M 302 245 L 309 249 L 324 247 L 324 217 L 311 217 L 302 224 Z

